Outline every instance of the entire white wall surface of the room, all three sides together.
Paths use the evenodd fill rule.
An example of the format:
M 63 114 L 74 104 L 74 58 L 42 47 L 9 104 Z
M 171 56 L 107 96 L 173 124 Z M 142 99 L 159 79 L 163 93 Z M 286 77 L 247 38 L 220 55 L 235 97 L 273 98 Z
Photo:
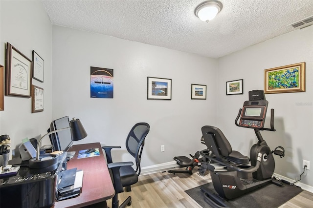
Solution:
M 217 62 L 59 26 L 52 29 L 41 1 L 0 1 L 2 65 L 6 42 L 29 58 L 35 50 L 45 60 L 45 82 L 33 80 L 45 90 L 44 112 L 31 113 L 31 99 L 4 98 L 0 134 L 11 136 L 12 149 L 24 137 L 39 138 L 52 118 L 68 115 L 80 118 L 89 133 L 77 144 L 121 145 L 117 151 L 121 154 L 115 157 L 121 160 L 128 159 L 123 154 L 124 143 L 132 125 L 148 122 L 151 131 L 143 166 L 169 162 L 174 156 L 203 149 L 203 125 L 217 125 L 234 149 L 248 155 L 256 142 L 255 135 L 252 130 L 234 125 L 248 91 L 263 89 L 264 69 L 306 62 L 306 92 L 267 95 L 269 108 L 275 108 L 277 131 L 263 135 L 272 149 L 278 145 L 286 149 L 284 158 L 275 157 L 276 173 L 298 179 L 302 159 L 311 161 L 313 169 L 313 26 L 248 47 Z M 90 66 L 114 69 L 114 99 L 90 98 Z M 172 79 L 172 100 L 148 101 L 147 76 Z M 226 96 L 225 82 L 236 79 L 244 79 L 244 95 Z M 191 83 L 207 85 L 206 101 L 190 99 Z M 165 145 L 165 152 L 160 152 L 160 145 Z M 304 174 L 301 182 L 313 186 L 313 170 Z

